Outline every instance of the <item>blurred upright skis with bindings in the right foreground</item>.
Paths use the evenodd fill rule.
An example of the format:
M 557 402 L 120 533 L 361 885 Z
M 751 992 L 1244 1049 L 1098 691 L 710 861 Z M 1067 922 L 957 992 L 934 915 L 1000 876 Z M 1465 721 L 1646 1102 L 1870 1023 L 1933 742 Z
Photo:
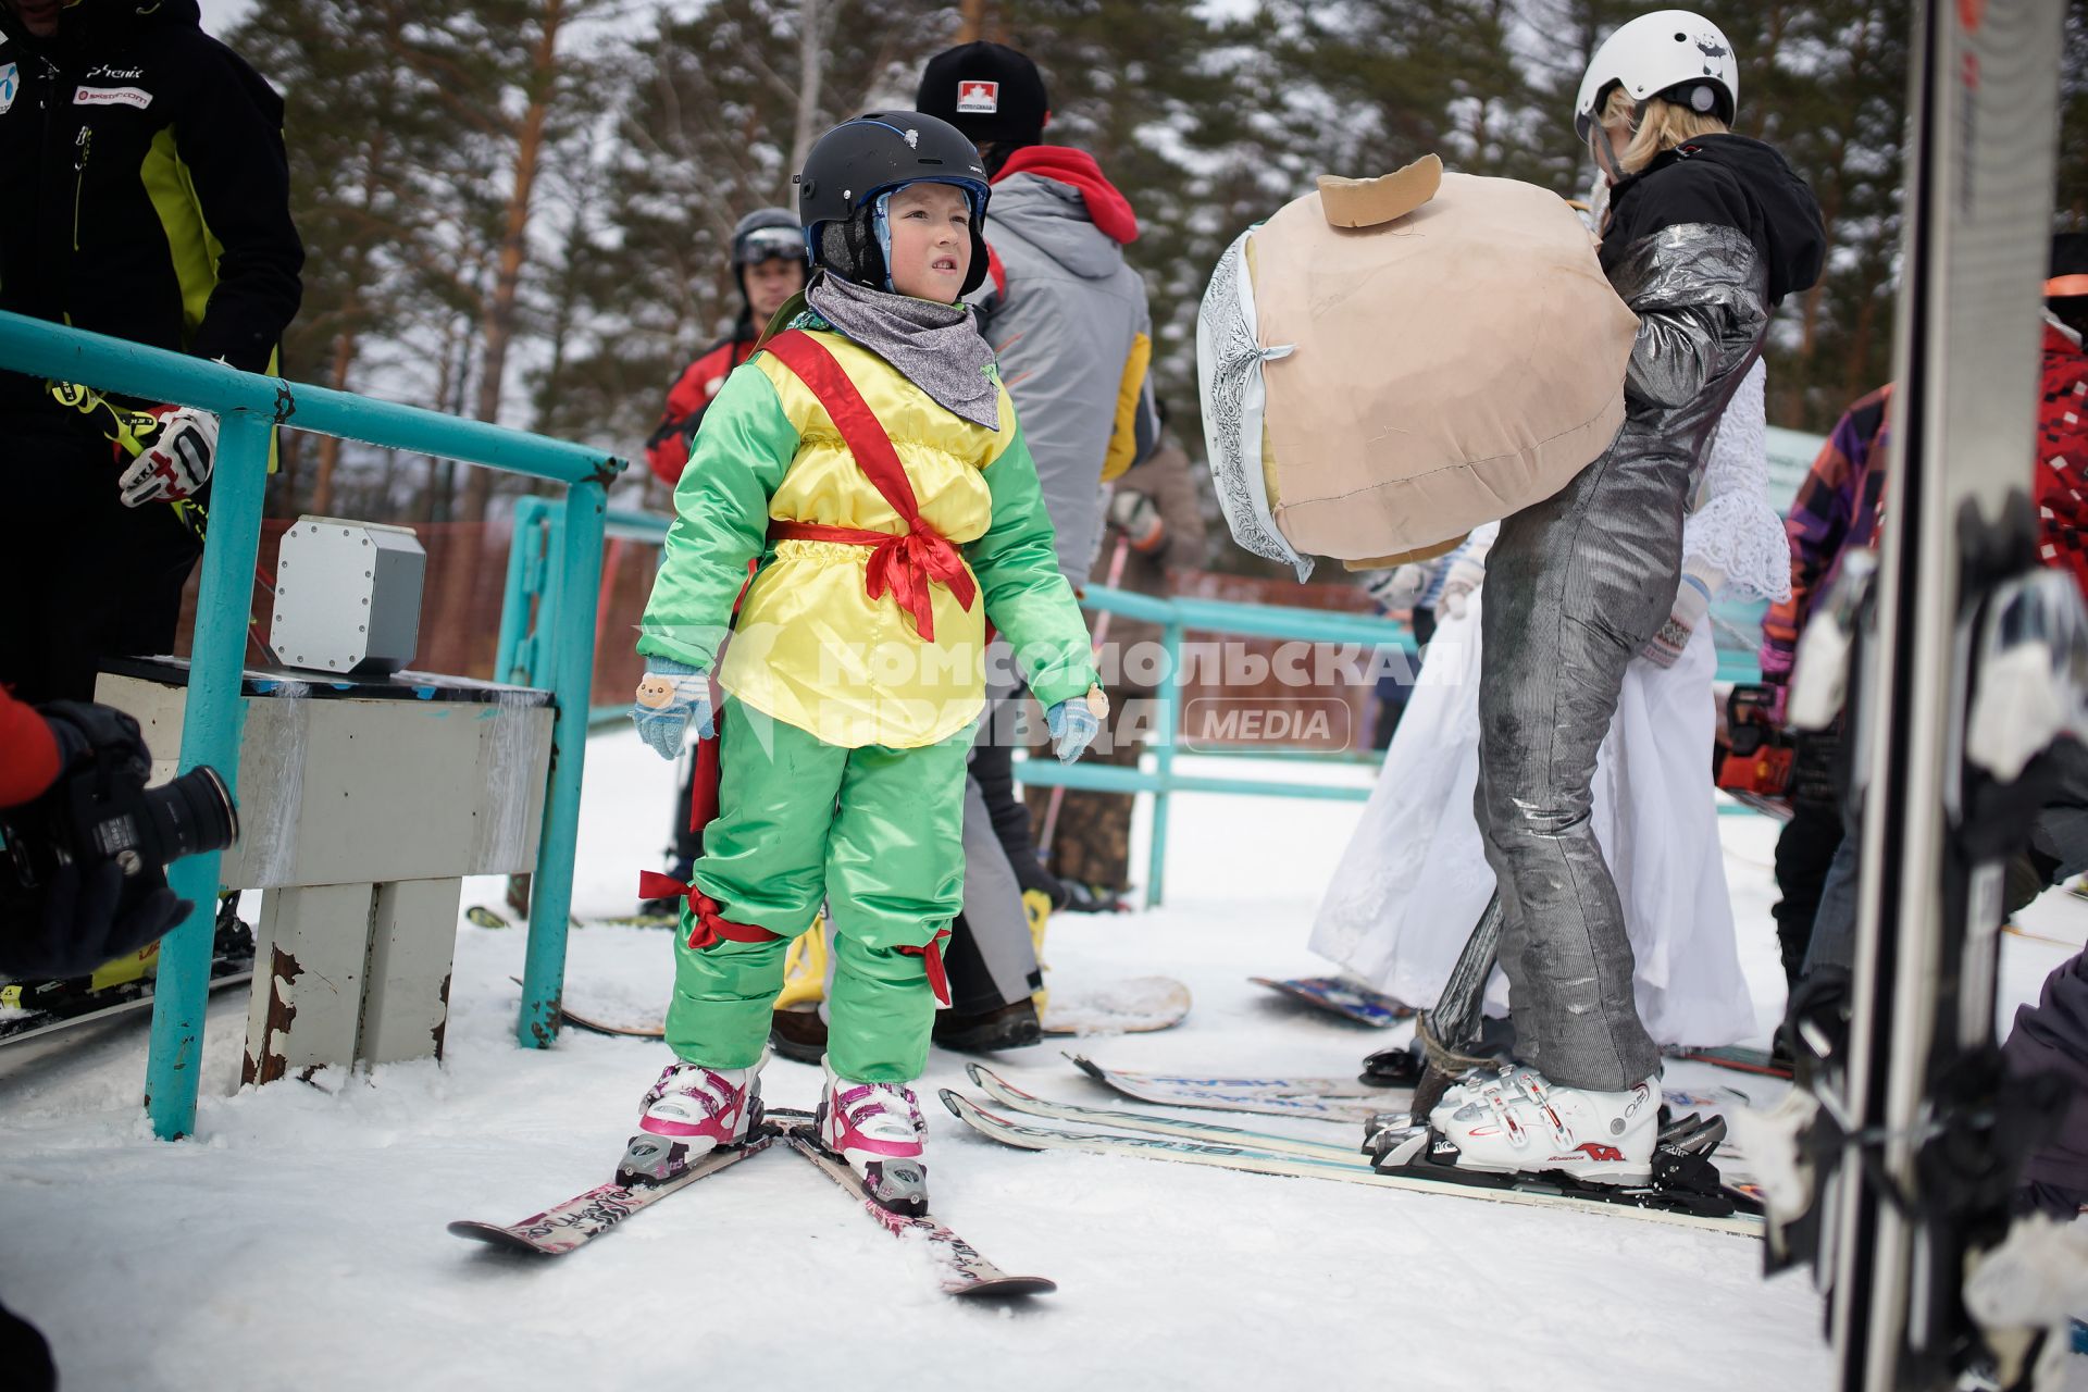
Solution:
M 1789 693 L 1792 722 L 1823 728 L 1848 691 L 1860 912 L 1846 985 L 1794 1000 L 1798 1087 L 1756 1165 L 1771 1265 L 1814 1267 L 1844 1392 L 2032 1377 L 2038 1321 L 1975 1315 L 1967 1277 L 2007 1242 L 2053 1110 L 1994 1043 L 2004 864 L 2050 741 L 2088 724 L 2088 614 L 2042 568 L 2032 503 L 2065 8 L 1911 6 L 1892 503 L 1873 593 L 1846 563 Z

